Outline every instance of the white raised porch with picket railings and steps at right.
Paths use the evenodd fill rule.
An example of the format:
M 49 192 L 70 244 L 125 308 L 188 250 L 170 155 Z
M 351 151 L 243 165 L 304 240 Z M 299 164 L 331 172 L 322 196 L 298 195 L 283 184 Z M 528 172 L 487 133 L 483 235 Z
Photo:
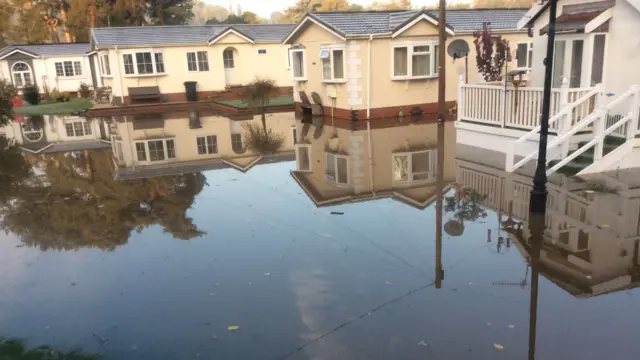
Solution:
M 547 173 L 568 164 L 577 167 L 579 160 L 579 175 L 633 163 L 625 158 L 640 145 L 635 139 L 640 85 L 619 96 L 608 96 L 602 85 L 569 85 L 565 79 L 552 89 Z M 543 88 L 472 85 L 460 79 L 457 140 L 505 153 L 505 170 L 513 172 L 538 156 L 542 99 Z

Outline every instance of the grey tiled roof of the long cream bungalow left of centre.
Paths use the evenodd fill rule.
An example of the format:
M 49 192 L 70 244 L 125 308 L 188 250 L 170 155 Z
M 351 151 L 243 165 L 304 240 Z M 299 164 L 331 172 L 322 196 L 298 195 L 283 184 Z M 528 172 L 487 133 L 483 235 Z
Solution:
M 94 28 L 97 46 L 204 44 L 232 28 L 255 42 L 280 42 L 293 30 L 289 24 L 175 25 Z

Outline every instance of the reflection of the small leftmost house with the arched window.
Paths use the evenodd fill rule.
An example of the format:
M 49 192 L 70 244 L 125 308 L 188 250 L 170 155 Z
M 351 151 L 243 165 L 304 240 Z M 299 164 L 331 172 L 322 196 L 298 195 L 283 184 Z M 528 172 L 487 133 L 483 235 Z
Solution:
M 111 129 L 101 119 L 79 116 L 33 116 L 0 128 L 29 153 L 54 153 L 109 148 Z

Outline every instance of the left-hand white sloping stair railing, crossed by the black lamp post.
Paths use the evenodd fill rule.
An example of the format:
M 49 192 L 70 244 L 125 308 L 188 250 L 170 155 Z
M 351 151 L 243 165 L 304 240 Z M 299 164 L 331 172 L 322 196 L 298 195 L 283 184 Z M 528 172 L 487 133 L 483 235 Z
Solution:
M 564 134 L 567 131 L 569 131 L 569 129 L 572 127 L 572 125 L 576 121 L 578 122 L 581 121 L 581 119 L 575 115 L 576 112 L 584 111 L 583 110 L 585 108 L 584 104 L 595 103 L 596 97 L 601 95 L 601 93 L 602 93 L 602 85 L 598 84 L 589 92 L 582 95 L 582 97 L 578 98 L 576 101 L 568 103 L 563 109 L 561 109 L 555 115 L 551 116 L 551 118 L 549 118 L 549 129 L 557 129 L 559 134 L 560 133 Z M 565 92 L 563 96 L 566 94 L 567 93 Z M 588 105 L 588 106 L 591 106 L 591 105 Z M 562 120 L 562 121 L 559 121 L 559 120 Z M 538 150 L 535 150 L 531 154 L 525 156 L 518 163 L 514 164 L 516 148 L 528 140 L 533 140 L 535 136 L 538 136 L 539 132 L 540 132 L 540 125 L 533 128 L 533 130 L 526 133 L 520 139 L 511 143 L 511 146 L 509 147 L 506 154 L 505 170 L 507 170 L 508 172 L 513 172 L 518 168 L 522 167 L 528 161 L 538 156 Z M 562 153 L 563 155 L 566 155 L 566 153 L 569 152 L 569 142 L 563 145 L 566 145 L 566 146 L 563 147 Z

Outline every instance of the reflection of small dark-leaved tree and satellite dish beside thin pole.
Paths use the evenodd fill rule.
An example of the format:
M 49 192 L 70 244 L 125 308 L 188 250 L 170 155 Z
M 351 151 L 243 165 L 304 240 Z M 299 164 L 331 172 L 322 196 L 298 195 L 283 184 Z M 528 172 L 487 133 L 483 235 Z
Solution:
M 444 211 L 453 213 L 453 219 L 444 224 L 444 230 L 450 236 L 460 236 L 464 232 L 465 221 L 476 221 L 487 217 L 487 212 L 480 207 L 487 198 L 471 188 L 456 188 L 453 196 L 445 197 Z

